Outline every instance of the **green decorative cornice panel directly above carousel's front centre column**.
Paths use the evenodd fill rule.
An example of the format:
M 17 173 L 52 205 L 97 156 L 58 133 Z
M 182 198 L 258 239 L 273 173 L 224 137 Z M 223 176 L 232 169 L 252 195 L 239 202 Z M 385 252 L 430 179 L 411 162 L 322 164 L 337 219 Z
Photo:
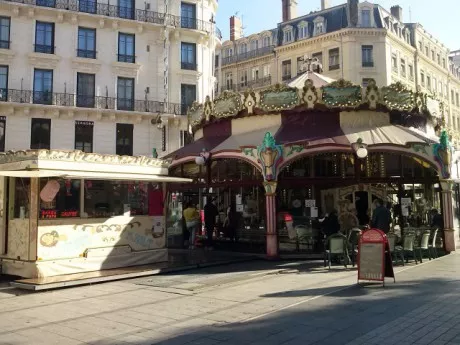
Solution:
M 264 111 L 291 109 L 299 103 L 297 89 L 275 85 L 260 92 L 260 108 Z

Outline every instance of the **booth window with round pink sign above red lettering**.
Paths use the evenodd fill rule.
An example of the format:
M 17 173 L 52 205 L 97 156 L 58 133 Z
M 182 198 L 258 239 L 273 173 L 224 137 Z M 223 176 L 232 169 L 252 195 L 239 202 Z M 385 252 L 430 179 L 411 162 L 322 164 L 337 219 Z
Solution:
M 40 218 L 80 216 L 80 180 L 40 179 Z

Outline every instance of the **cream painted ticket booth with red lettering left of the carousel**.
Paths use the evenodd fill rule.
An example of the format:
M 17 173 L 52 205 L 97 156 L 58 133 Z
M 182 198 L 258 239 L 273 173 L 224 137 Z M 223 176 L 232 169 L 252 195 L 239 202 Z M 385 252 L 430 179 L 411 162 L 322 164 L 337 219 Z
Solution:
M 168 164 L 148 157 L 30 150 L 0 155 L 4 274 L 45 278 L 168 260 Z

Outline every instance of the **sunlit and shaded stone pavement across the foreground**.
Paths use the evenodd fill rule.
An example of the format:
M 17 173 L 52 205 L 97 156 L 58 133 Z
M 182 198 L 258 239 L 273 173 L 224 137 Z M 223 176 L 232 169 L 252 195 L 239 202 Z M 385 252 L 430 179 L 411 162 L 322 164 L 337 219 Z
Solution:
M 240 263 L 43 293 L 0 289 L 0 344 L 460 344 L 460 255 L 356 285 L 318 262 Z M 157 280 L 156 280 L 157 279 Z

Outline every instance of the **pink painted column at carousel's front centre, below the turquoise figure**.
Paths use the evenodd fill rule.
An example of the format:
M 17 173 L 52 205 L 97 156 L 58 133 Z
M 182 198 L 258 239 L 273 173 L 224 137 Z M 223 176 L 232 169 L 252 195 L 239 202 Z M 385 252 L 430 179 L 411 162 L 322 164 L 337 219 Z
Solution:
M 267 258 L 277 259 L 278 255 L 278 232 L 276 229 L 276 182 L 264 183 L 265 207 L 266 207 L 266 235 L 267 235 Z

